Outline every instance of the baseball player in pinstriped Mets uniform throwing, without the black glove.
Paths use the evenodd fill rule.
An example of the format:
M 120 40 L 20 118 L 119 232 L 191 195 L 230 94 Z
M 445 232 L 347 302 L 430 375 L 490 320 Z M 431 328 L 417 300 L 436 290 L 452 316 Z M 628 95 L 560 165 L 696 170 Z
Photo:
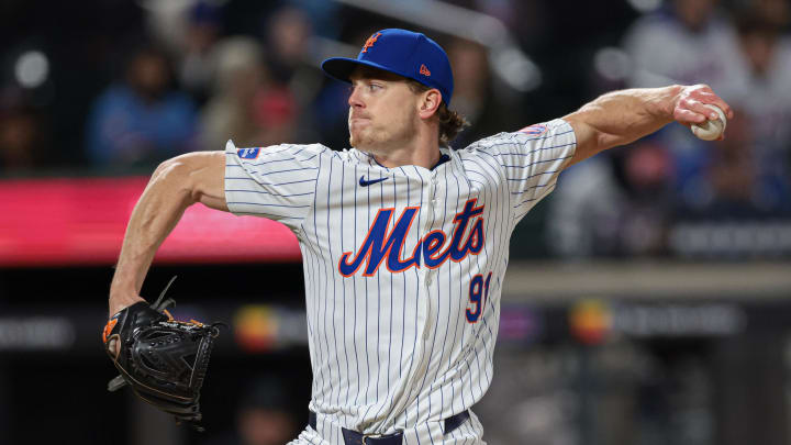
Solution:
M 201 202 L 280 221 L 300 242 L 313 369 L 293 444 L 482 444 L 471 411 L 492 378 L 516 223 L 560 171 L 677 121 L 731 116 L 709 87 L 604 94 L 580 110 L 460 149 L 445 52 L 382 30 L 324 71 L 350 85 L 349 142 L 236 147 L 163 163 L 135 207 L 110 313 L 142 300 L 154 254 Z

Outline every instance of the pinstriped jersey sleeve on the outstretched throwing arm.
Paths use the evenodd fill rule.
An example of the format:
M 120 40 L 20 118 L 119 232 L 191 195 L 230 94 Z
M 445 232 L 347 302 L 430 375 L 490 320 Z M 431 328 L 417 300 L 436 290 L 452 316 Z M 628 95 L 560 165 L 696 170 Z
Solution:
M 490 141 L 508 181 L 514 223 L 555 189 L 558 175 L 577 148 L 571 125 L 556 119 Z

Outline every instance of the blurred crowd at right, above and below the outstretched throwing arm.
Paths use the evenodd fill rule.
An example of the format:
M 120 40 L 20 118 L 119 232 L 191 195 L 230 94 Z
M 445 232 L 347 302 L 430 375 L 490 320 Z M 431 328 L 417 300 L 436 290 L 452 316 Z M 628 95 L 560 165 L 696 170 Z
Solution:
M 637 19 L 601 85 L 708 84 L 734 109 L 726 138 L 669 125 L 568 171 L 555 252 L 744 259 L 791 253 L 791 3 L 670 0 Z

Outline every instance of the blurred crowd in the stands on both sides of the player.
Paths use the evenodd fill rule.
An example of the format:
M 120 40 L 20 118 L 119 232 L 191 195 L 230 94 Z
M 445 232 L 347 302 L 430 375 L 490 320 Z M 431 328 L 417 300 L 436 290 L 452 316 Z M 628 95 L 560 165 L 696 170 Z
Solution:
M 725 141 L 704 143 L 669 125 L 569 169 L 547 205 L 549 253 L 791 253 L 782 223 L 791 221 L 788 0 L 623 0 L 604 12 L 579 4 L 573 16 L 564 2 L 450 3 L 500 19 L 544 70 L 534 91 L 509 90 L 484 46 L 425 30 L 448 51 L 454 108 L 472 123 L 456 146 L 562 115 L 617 88 L 705 82 L 736 112 Z M 11 0 L 2 11 L 18 26 L 7 26 L 13 38 L 0 54 L 7 177 L 148 173 L 180 153 L 222 149 L 230 138 L 344 148 L 347 89 L 321 73 L 319 44 L 356 49 L 376 29 L 411 26 L 322 0 L 141 0 L 115 14 L 113 2 L 92 0 L 85 13 L 70 12 L 81 14 L 71 26 L 86 35 L 47 34 L 67 54 L 47 57 L 55 42 L 24 36 L 36 30 L 20 20 L 35 8 L 27 4 Z M 608 14 L 614 22 L 601 22 Z

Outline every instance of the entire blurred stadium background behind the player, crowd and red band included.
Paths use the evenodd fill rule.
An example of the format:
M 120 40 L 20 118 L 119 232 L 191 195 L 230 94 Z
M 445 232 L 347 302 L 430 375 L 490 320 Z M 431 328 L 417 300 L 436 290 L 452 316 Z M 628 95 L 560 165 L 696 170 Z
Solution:
M 456 145 L 611 89 L 706 82 L 727 140 L 660 133 L 575 166 L 522 222 L 495 378 L 494 445 L 791 443 L 788 0 L 3 0 L 0 444 L 281 444 L 307 421 L 296 238 L 189 210 L 143 289 L 225 320 L 208 432 L 110 394 L 99 333 L 126 219 L 161 160 L 280 142 L 346 146 L 317 63 L 375 30 L 450 55 Z

